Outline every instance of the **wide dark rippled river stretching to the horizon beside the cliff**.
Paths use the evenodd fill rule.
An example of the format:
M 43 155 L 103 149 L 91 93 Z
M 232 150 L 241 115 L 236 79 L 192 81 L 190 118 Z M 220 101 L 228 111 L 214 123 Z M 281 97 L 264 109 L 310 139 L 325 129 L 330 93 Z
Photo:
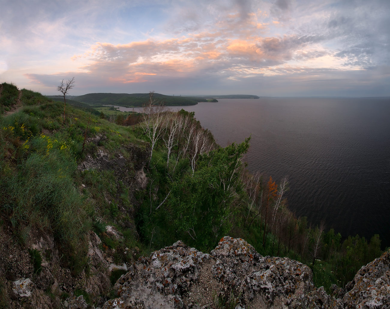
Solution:
M 298 217 L 390 245 L 390 98 L 218 101 L 173 109 L 194 111 L 221 146 L 251 136 L 248 169 L 287 175 Z

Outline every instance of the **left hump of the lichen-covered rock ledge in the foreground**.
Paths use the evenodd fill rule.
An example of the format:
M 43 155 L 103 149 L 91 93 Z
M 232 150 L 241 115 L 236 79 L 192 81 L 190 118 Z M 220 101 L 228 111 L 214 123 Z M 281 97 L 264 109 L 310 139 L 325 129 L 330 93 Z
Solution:
M 199 277 L 200 265 L 209 258 L 181 241 L 153 252 L 149 259 L 141 257 L 115 284 L 121 297 L 106 302 L 103 308 L 183 307 L 181 295 L 188 293 Z

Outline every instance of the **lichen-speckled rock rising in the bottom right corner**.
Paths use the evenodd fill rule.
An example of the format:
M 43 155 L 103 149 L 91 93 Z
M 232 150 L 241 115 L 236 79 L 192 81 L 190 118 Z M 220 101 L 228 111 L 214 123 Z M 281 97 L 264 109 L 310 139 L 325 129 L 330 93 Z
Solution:
M 360 268 L 345 290 L 343 308 L 390 308 L 390 252 Z

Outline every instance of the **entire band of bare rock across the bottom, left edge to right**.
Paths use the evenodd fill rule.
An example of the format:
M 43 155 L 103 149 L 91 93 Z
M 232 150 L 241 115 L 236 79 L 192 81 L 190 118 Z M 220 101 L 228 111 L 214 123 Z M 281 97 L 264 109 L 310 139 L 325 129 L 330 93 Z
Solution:
M 0 240 L 8 244 L 0 247 L 0 307 L 390 308 L 389 252 L 363 266 L 345 289 L 334 286 L 328 295 L 314 286 L 308 266 L 286 257 L 261 256 L 241 238 L 223 237 L 210 254 L 178 241 L 133 265 L 115 265 L 91 231 L 89 275 L 83 271 L 73 277 L 60 264 L 53 236 L 30 231 L 26 245 L 42 256 L 37 272 L 27 248 L 13 242 L 8 229 L 0 230 Z M 112 239 L 122 237 L 113 226 L 106 227 L 106 233 Z M 105 301 L 113 269 L 127 273 L 114 286 L 115 298 Z M 74 295 L 76 289 L 93 298 L 94 305 Z

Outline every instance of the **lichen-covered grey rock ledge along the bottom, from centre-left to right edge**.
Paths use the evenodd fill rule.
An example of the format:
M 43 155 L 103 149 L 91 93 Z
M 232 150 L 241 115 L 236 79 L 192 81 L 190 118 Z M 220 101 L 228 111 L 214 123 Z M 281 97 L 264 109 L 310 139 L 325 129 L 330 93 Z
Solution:
M 245 240 L 225 236 L 210 254 L 179 241 L 140 257 L 103 308 L 388 308 L 389 278 L 387 252 L 336 299 L 314 286 L 308 266 L 263 257 Z

